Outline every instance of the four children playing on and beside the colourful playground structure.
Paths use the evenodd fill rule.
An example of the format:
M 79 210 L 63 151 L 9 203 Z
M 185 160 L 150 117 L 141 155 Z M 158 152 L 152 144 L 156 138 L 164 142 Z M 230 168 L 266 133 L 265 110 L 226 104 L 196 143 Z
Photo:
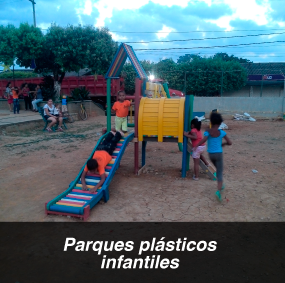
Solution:
M 112 154 L 116 148 L 118 141 L 127 132 L 127 116 L 129 112 L 129 107 L 131 102 L 126 100 L 126 95 L 124 91 L 119 91 L 118 101 L 114 103 L 112 107 L 112 112 L 116 114 L 115 117 L 115 129 L 112 129 L 97 147 L 93 157 L 87 161 L 86 167 L 82 173 L 82 189 L 88 190 L 88 186 L 85 181 L 87 173 L 96 174 L 99 173 L 100 181 L 99 183 L 91 188 L 90 192 L 95 193 L 105 181 L 105 167 L 112 160 Z M 216 167 L 216 177 L 218 183 L 218 190 L 215 195 L 219 201 L 222 201 L 222 192 L 225 189 L 223 183 L 223 146 L 231 145 L 232 142 L 227 136 L 227 133 L 220 130 L 219 127 L 223 122 L 223 118 L 219 113 L 212 113 L 210 116 L 211 128 L 207 129 L 204 133 L 204 137 L 201 131 L 201 121 L 198 119 L 193 119 L 191 121 L 191 131 L 184 132 L 184 136 L 191 139 L 192 142 L 192 157 L 194 160 L 194 175 L 193 180 L 199 180 L 199 162 L 200 159 L 208 167 L 209 162 L 203 156 L 206 150 L 206 142 L 208 143 L 208 153 L 211 162 Z M 103 133 L 106 132 L 104 129 Z M 223 142 L 225 139 L 225 142 Z

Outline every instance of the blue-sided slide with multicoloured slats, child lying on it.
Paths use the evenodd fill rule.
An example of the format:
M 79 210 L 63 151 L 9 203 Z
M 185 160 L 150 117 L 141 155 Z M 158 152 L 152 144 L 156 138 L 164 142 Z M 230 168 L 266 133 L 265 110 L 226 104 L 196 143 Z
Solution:
M 105 135 L 97 142 L 94 150 L 87 160 L 93 157 L 97 146 L 101 143 L 104 137 Z M 109 200 L 109 184 L 120 165 L 121 158 L 128 143 L 133 139 L 133 137 L 134 133 L 130 133 L 128 136 L 122 137 L 117 143 L 117 147 L 112 155 L 112 160 L 105 168 L 106 180 L 103 186 L 100 187 L 95 194 L 82 190 L 81 174 L 86 166 L 86 161 L 75 180 L 70 183 L 69 188 L 45 204 L 45 213 L 74 216 L 82 218 L 84 221 L 87 220 L 91 208 L 93 208 L 102 198 L 104 198 L 105 202 Z M 87 187 L 90 189 L 98 184 L 100 176 L 87 174 L 85 181 Z

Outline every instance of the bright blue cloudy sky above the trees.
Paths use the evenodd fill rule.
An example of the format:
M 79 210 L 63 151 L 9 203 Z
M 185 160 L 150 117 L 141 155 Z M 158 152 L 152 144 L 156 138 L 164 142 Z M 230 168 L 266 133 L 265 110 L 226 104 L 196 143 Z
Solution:
M 104 26 L 115 41 L 131 45 L 139 60 L 176 61 L 184 54 L 226 52 L 253 62 L 285 62 L 285 0 L 35 2 L 37 26 L 44 33 L 51 23 Z M 33 24 L 32 3 L 0 0 L 0 24 L 22 22 Z

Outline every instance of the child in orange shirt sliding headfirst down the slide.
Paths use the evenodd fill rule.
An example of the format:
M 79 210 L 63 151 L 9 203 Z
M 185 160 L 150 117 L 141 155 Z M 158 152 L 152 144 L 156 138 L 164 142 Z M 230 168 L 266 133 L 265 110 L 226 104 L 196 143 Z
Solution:
M 101 178 L 99 183 L 90 190 L 91 193 L 96 193 L 97 189 L 103 185 L 106 179 L 105 167 L 112 160 L 112 154 L 121 138 L 122 134 L 120 132 L 111 131 L 106 135 L 104 140 L 97 147 L 92 159 L 87 161 L 87 165 L 81 175 L 82 190 L 88 190 L 85 182 L 88 171 L 91 174 L 96 174 L 98 171 Z

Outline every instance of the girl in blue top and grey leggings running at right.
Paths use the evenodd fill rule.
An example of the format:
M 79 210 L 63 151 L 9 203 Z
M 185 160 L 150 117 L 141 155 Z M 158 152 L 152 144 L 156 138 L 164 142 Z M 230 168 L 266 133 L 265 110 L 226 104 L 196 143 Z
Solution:
M 208 153 L 211 161 L 217 169 L 218 190 L 216 196 L 219 201 L 222 201 L 221 192 L 224 190 L 223 185 L 223 149 L 224 145 L 231 145 L 232 142 L 228 138 L 227 133 L 219 130 L 223 122 L 223 118 L 219 113 L 212 113 L 210 117 L 212 128 L 204 133 L 204 138 L 196 145 L 196 148 L 204 144 L 208 140 Z M 226 140 L 222 143 L 223 138 Z

